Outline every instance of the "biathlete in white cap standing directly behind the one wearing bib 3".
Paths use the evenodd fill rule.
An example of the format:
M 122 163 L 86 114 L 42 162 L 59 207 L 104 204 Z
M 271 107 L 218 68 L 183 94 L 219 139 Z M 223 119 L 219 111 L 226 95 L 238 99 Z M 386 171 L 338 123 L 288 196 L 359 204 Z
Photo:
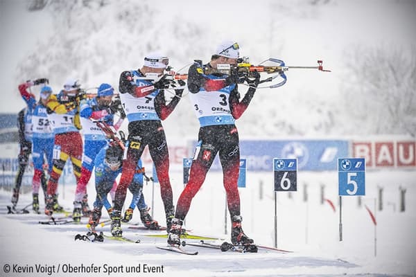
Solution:
M 143 154 L 146 145 L 159 179 L 166 224 L 167 226 L 171 225 L 175 208 L 173 207 L 173 194 L 168 172 L 168 145 L 161 120 L 166 119 L 175 109 L 183 89 L 175 89 L 175 96 L 166 104 L 164 89 L 168 89 L 173 80 L 166 80 L 166 76 L 157 82 L 143 80 L 148 73 L 162 76 L 167 65 L 167 57 L 148 55 L 144 58 L 144 66 L 141 69 L 124 71 L 120 76 L 120 98 L 129 121 L 129 135 L 127 156 L 123 161 L 123 172 L 114 199 L 111 228 L 114 236 L 122 234 L 121 208 L 123 208 L 127 188 L 135 175 L 137 161 Z M 184 84 L 183 81 L 180 82 L 181 86 Z

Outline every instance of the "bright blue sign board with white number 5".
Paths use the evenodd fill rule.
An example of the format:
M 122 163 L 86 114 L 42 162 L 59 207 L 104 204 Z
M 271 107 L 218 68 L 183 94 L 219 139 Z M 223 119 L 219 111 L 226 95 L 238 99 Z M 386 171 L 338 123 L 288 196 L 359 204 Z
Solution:
M 365 195 L 365 159 L 338 159 L 338 195 Z

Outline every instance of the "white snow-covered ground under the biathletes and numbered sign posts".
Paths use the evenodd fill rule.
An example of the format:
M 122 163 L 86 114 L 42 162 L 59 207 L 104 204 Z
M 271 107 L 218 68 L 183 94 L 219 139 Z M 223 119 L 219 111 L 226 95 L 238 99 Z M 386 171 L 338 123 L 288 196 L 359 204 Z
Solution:
M 74 241 L 77 233 L 85 233 L 87 219 L 83 224 L 45 226 L 38 224 L 46 215 L 6 215 L 10 204 L 10 192 L 0 190 L 0 233 L 4 265 L 33 267 L 36 264 L 55 266 L 51 276 L 107 276 L 105 265 L 124 267 L 124 274 L 132 276 L 125 267 L 144 265 L 163 266 L 164 274 L 155 276 L 415 276 L 416 242 L 414 240 L 416 216 L 416 172 L 367 172 L 367 191 L 358 207 L 356 197 L 343 198 L 343 241 L 339 241 L 338 185 L 336 172 L 300 172 L 298 191 L 277 194 L 277 247 L 294 253 L 277 253 L 260 250 L 259 253 L 221 253 L 218 250 L 197 248 L 198 256 L 184 256 L 156 249 L 165 244 L 164 238 L 146 237 L 148 231 L 128 229 L 123 225 L 124 235 L 140 239 L 139 244 L 105 240 L 102 243 Z M 171 176 L 176 200 L 182 191 L 182 175 Z M 224 234 L 225 193 L 221 175 L 209 172 L 207 181 L 192 202 L 187 216 L 187 229 L 198 235 L 214 236 L 229 240 Z M 262 185 L 260 184 L 262 182 Z M 304 185 L 308 201 L 304 202 Z M 321 186 L 324 198 L 336 205 L 334 212 L 327 202 L 320 204 Z M 377 227 L 366 205 L 374 213 L 377 187 L 384 188 L 383 211 L 376 211 Z M 399 187 L 407 188 L 406 211 L 399 212 Z M 263 192 L 261 192 L 262 187 Z M 63 191 L 63 189 L 65 191 Z M 272 192 L 272 174 L 248 172 L 248 186 L 240 188 L 243 228 L 258 244 L 274 245 L 275 205 Z M 60 202 L 72 207 L 75 186 L 60 188 Z M 89 185 L 90 202 L 94 187 Z M 151 206 L 152 186 L 145 186 L 146 202 Z M 62 195 L 65 195 L 62 199 Z M 260 199 L 260 195 L 261 199 Z M 126 202 L 130 201 L 128 198 Z M 31 194 L 21 195 L 19 206 L 31 202 Z M 158 185 L 155 184 L 154 216 L 164 222 L 162 202 Z M 229 221 L 229 218 L 228 218 Z M 133 223 L 140 222 L 135 213 Z M 109 235 L 109 226 L 103 231 Z M 157 233 L 157 232 L 156 232 Z M 160 231 L 164 233 L 164 231 Z M 228 222 L 229 233 L 229 222 Z M 376 235 L 376 256 L 374 249 Z M 194 249 L 194 247 L 187 247 Z M 101 274 L 69 274 L 63 272 L 67 265 L 101 267 Z M 60 272 L 56 272 L 60 266 Z M 46 276 L 46 274 L 5 274 L 1 276 Z M 150 273 L 142 275 L 152 275 Z

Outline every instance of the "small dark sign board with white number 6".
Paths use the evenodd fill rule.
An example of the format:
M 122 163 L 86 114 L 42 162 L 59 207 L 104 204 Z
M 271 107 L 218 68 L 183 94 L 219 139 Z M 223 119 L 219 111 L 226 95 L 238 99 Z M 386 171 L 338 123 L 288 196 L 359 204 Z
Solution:
M 275 191 L 296 191 L 297 159 L 273 159 Z

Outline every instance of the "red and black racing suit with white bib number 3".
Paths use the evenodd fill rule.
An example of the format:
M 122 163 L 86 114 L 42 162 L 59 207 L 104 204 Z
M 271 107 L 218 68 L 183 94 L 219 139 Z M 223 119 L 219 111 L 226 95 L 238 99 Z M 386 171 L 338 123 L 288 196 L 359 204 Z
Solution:
M 223 167 L 223 181 L 231 217 L 240 215 L 239 179 L 240 148 L 239 132 L 234 121 L 247 109 L 255 87 L 250 87 L 243 100 L 240 99 L 236 82 L 229 82 L 227 75 L 205 75 L 209 64 L 193 64 L 188 73 L 188 89 L 191 101 L 200 120 L 198 145 L 189 174 L 189 182 L 177 201 L 175 217 L 184 220 L 191 201 L 196 195 L 216 154 Z M 204 69 L 202 69 L 204 68 Z

